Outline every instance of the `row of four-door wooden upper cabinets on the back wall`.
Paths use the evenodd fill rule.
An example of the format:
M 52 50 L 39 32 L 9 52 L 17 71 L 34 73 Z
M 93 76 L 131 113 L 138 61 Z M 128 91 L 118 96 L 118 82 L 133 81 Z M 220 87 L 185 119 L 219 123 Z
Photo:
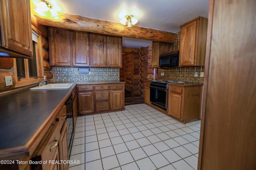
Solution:
M 122 67 L 122 37 L 50 27 L 50 65 Z

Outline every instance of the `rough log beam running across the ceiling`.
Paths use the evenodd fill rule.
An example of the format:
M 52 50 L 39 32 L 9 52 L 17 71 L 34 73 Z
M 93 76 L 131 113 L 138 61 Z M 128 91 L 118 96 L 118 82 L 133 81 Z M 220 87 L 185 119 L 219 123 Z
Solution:
M 144 27 L 127 27 L 120 23 L 86 18 L 71 14 L 60 14 L 60 20 L 52 18 L 41 18 L 34 14 L 36 21 L 41 25 L 48 25 L 52 27 L 59 27 L 64 29 L 72 29 L 76 31 L 86 31 L 93 33 L 100 33 L 106 35 L 115 35 L 120 37 L 131 37 L 138 39 L 146 39 L 150 41 L 158 41 L 164 43 L 175 43 L 177 35 L 167 31 L 160 31 L 156 29 Z

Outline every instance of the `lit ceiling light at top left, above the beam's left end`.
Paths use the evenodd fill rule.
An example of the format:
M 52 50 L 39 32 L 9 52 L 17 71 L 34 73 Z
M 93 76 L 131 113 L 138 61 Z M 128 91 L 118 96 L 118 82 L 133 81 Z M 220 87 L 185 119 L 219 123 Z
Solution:
M 56 17 L 59 14 L 52 8 L 52 5 L 50 2 L 47 2 L 46 0 L 40 0 L 37 4 L 37 8 L 35 9 L 35 12 L 39 14 L 40 16 L 47 16 L 46 12 L 50 11 L 50 14 L 52 17 Z

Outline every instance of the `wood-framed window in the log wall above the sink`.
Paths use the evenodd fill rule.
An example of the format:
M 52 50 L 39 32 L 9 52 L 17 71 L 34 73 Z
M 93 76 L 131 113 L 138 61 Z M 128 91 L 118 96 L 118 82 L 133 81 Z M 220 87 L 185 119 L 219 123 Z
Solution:
M 14 60 L 14 75 L 16 86 L 23 86 L 42 81 L 44 68 L 42 66 L 41 35 L 32 31 L 33 59 Z

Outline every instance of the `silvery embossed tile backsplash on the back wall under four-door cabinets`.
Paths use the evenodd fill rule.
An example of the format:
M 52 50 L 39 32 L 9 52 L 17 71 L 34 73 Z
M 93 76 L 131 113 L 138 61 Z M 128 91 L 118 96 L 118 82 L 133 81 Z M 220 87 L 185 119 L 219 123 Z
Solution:
M 89 73 L 79 73 L 78 67 L 55 67 L 56 82 L 62 81 L 119 81 L 119 68 L 89 68 Z

